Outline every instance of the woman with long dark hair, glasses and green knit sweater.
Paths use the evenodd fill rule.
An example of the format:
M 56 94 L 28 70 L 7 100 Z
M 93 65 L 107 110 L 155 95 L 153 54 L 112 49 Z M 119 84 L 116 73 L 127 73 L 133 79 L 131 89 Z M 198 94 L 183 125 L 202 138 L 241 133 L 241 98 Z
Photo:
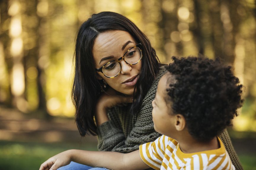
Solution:
M 73 102 L 81 136 L 98 135 L 100 151 L 128 153 L 160 136 L 151 102 L 166 73 L 148 38 L 126 17 L 93 14 L 76 39 Z M 220 136 L 236 169 L 242 169 L 226 130 Z M 90 169 L 71 162 L 60 169 Z

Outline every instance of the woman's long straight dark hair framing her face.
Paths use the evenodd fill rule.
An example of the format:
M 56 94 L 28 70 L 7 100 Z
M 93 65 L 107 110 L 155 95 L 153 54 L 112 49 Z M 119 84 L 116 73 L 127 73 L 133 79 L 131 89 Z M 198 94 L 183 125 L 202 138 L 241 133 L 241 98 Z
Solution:
M 131 114 L 140 109 L 142 100 L 159 70 L 159 59 L 155 50 L 132 21 L 115 12 L 93 14 L 79 29 L 74 56 L 76 64 L 72 101 L 76 109 L 76 125 L 81 136 L 87 133 L 97 135 L 94 113 L 103 82 L 96 79 L 92 48 L 97 35 L 108 30 L 127 31 L 142 44 L 142 68 L 136 84 L 136 93 L 134 92 Z

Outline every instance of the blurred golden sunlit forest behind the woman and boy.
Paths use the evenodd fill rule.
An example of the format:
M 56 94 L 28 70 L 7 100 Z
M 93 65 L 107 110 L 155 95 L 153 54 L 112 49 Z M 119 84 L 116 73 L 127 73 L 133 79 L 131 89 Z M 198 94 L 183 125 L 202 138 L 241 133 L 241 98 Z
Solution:
M 245 104 L 234 130 L 256 131 L 254 1 L 8 1 L 1 11 L 0 102 L 25 113 L 74 117 L 73 54 L 79 26 L 92 14 L 119 12 L 149 38 L 162 63 L 204 53 L 234 67 Z

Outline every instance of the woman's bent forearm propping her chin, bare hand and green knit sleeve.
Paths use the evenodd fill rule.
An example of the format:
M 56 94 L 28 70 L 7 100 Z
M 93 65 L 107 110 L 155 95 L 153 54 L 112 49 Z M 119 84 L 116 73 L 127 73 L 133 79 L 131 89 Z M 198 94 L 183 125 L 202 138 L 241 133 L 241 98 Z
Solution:
M 118 95 L 110 87 L 98 100 L 95 118 L 99 140 L 98 148 L 100 151 L 112 151 L 115 146 L 123 145 L 125 134 L 119 119 L 120 107 L 117 105 L 131 102 L 131 97 Z

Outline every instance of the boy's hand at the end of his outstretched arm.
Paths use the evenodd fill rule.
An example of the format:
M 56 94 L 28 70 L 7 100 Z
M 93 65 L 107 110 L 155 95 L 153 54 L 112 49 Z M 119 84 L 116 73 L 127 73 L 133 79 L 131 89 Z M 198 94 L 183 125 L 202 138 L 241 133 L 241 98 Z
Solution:
M 57 170 L 61 166 L 70 164 L 70 162 L 71 151 L 68 150 L 49 158 L 47 161 L 41 164 L 39 170 Z

